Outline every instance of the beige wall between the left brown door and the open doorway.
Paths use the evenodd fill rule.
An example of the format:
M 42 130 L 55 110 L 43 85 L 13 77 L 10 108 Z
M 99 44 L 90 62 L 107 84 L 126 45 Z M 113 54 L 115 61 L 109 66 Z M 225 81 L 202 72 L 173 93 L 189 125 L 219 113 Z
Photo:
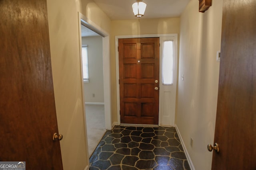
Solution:
M 110 31 L 110 19 L 92 0 L 47 0 L 54 96 L 64 170 L 88 166 L 78 36 L 78 12 Z

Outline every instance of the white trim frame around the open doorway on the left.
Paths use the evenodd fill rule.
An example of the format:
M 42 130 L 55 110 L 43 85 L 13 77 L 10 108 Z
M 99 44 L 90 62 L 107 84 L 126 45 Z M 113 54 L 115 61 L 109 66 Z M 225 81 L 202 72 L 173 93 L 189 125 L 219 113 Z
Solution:
M 111 125 L 111 89 L 110 89 L 110 42 L 109 34 L 100 26 L 89 20 L 86 16 L 78 12 L 78 28 L 79 28 L 79 52 L 80 52 L 80 71 L 82 75 L 82 36 L 81 36 L 81 24 L 88 27 L 92 31 L 102 36 L 102 58 L 103 58 L 103 86 L 104 86 L 104 112 L 105 112 L 105 128 L 107 130 L 112 129 Z M 84 82 L 81 78 L 82 96 L 84 96 Z M 84 97 L 82 98 L 84 103 Z M 83 105 L 84 114 L 85 106 Z M 85 125 L 86 128 L 86 118 Z M 87 131 L 87 129 L 86 129 Z

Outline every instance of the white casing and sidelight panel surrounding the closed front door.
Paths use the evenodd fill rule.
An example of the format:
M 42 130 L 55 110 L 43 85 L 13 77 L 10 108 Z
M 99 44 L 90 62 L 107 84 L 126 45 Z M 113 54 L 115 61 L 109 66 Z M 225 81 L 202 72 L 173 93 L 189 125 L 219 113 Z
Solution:
M 118 39 L 121 38 L 147 38 L 160 37 L 160 95 L 159 95 L 159 121 L 160 126 L 175 125 L 176 110 L 176 87 L 178 70 L 178 34 L 148 34 L 148 35 L 120 35 L 115 37 L 116 46 L 116 98 L 117 98 L 117 122 L 113 125 L 120 125 L 120 88 L 119 88 L 119 60 L 118 60 Z M 174 81 L 172 85 L 162 85 L 162 46 L 163 42 L 171 40 L 174 42 Z

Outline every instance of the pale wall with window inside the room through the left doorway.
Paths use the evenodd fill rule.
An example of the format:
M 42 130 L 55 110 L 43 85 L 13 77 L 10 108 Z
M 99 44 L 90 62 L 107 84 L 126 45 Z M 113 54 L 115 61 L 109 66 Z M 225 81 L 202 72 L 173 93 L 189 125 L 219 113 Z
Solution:
M 82 37 L 82 45 L 88 45 L 89 82 L 84 82 L 85 102 L 104 103 L 102 36 Z

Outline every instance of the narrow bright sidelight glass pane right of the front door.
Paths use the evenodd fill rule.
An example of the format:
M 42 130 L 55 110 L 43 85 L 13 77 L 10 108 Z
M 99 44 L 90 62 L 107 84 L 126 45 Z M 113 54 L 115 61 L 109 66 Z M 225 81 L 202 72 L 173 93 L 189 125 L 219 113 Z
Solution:
M 164 41 L 162 53 L 162 84 L 172 85 L 174 76 L 174 44 Z

